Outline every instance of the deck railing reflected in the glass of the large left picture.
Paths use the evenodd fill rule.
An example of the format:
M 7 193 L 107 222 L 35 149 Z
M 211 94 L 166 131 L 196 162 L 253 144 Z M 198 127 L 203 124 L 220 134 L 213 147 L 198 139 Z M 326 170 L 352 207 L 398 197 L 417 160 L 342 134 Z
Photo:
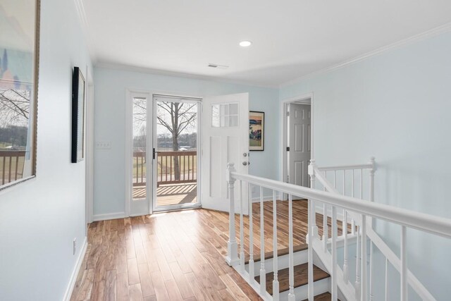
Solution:
M 0 151 L 1 185 L 21 179 L 24 162 L 25 151 Z

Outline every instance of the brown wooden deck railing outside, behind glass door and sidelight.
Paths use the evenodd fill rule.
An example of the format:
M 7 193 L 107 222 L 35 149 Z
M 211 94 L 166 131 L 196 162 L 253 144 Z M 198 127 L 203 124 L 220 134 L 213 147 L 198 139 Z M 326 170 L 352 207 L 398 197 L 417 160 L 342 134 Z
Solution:
M 197 151 L 156 154 L 157 185 L 197 182 Z M 146 152 L 133 152 L 133 186 L 146 185 L 146 174 Z

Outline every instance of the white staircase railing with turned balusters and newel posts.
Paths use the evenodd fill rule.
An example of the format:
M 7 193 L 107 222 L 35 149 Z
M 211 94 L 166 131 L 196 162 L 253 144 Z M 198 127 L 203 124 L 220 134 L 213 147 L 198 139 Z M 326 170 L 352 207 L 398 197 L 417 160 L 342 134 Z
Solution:
M 311 176 L 311 188 L 283 183 L 276 180 L 269 180 L 257 176 L 237 173 L 233 168 L 233 164 L 228 164 L 227 180 L 229 189 L 229 240 L 227 262 L 233 266 L 243 278 L 259 293 L 264 300 L 278 300 L 279 283 L 278 283 L 278 243 L 277 243 L 277 226 L 278 223 L 286 223 L 287 221 L 279 221 L 277 218 L 277 197 L 278 195 L 288 195 L 288 240 L 289 240 L 289 293 L 288 300 L 297 300 L 295 296 L 294 286 L 294 253 L 293 253 L 293 219 L 292 219 L 292 197 L 304 197 L 308 199 L 308 299 L 314 298 L 314 277 L 313 277 L 313 261 L 314 254 L 319 257 L 321 262 L 328 270 L 330 281 L 330 293 L 332 300 L 338 300 L 339 294 L 341 298 L 346 300 L 373 300 L 373 253 L 379 250 L 385 257 L 385 266 L 392 264 L 397 271 L 400 272 L 400 300 L 407 300 L 407 288 L 410 286 L 414 292 L 423 300 L 435 300 L 431 293 L 422 285 L 422 283 L 407 269 L 406 260 L 406 244 L 407 244 L 407 228 L 414 228 L 433 235 L 440 235 L 445 238 L 451 238 L 451 219 L 444 219 L 438 216 L 422 214 L 407 209 L 388 206 L 386 204 L 378 204 L 373 201 L 373 179 L 374 179 L 374 159 L 372 158 L 368 164 L 352 165 L 352 166 L 333 166 L 327 168 L 319 168 L 312 160 L 309 166 L 309 174 Z M 357 178 L 354 171 L 358 171 Z M 329 173 L 333 174 L 333 184 L 328 180 Z M 365 180 L 364 175 L 368 173 L 369 178 Z M 341 174 L 340 176 L 338 176 Z M 349 180 L 350 178 L 350 180 Z M 316 182 L 317 180 L 317 182 Z M 357 180 L 357 185 L 355 182 Z M 237 250 L 237 237 L 235 232 L 235 182 L 239 181 L 240 193 L 237 202 L 240 202 L 240 253 Z M 326 191 L 316 190 L 316 184 L 321 184 Z M 368 183 L 368 200 L 364 200 L 364 184 Z M 341 184 L 342 191 L 337 190 L 338 184 Z M 249 195 L 242 195 L 242 185 L 249 186 Z M 260 281 L 254 279 L 254 228 L 252 217 L 252 202 L 249 202 L 249 268 L 245 269 L 245 229 L 243 226 L 243 211 L 245 204 L 250 200 L 250 185 L 259 186 L 260 188 Z M 263 189 L 273 190 L 273 295 L 266 292 L 266 271 L 264 264 L 265 257 L 265 232 L 264 232 L 264 199 Z M 357 188 L 357 193 L 356 193 Z M 351 190 L 351 191 L 350 191 Z M 347 195 L 349 194 L 349 195 Z M 358 195 L 358 197 L 355 197 Z M 246 201 L 245 201 L 246 199 Z M 317 207 L 317 205 L 322 207 Z M 330 208 L 329 208 L 330 207 Z M 318 226 L 316 225 L 316 212 L 322 209 L 323 229 L 325 235 L 322 238 L 318 235 Z M 321 210 L 320 209 L 320 210 Z M 330 209 L 330 210 L 329 210 Z M 338 216 L 341 214 L 341 216 Z M 328 232 L 328 217 L 331 220 L 331 232 Z M 342 235 L 338 235 L 338 220 L 342 221 Z M 397 257 L 383 239 L 373 230 L 373 221 L 381 219 L 390 223 L 395 223 L 401 227 L 400 257 Z M 271 221 L 269 221 L 271 222 Z M 351 234 L 347 229 L 351 224 Z M 255 230 L 257 231 L 257 229 Z M 344 258 L 343 264 L 338 264 L 337 250 L 338 242 L 343 248 Z M 350 247 L 356 245 L 356 274 L 354 279 L 350 279 L 350 259 L 348 254 Z M 369 244 L 369 254 L 367 247 Z M 368 258 L 369 257 L 369 258 Z M 369 259 L 369 270 L 367 268 L 367 260 Z M 266 266 L 267 267 L 267 266 Z M 385 269 L 385 279 L 378 279 L 385 283 L 385 300 L 388 291 L 387 281 L 388 273 Z M 352 281 L 354 280 L 354 281 Z M 369 288 L 369 290 L 368 290 Z

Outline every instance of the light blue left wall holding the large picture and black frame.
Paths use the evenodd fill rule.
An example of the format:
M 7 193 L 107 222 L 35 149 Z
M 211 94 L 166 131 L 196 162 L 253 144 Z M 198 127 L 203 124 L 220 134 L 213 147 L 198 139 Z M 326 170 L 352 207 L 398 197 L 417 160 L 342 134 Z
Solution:
M 74 3 L 41 1 L 37 176 L 0 192 L 2 301 L 63 300 L 85 240 L 85 161 L 70 163 L 70 112 L 73 66 L 92 68 Z

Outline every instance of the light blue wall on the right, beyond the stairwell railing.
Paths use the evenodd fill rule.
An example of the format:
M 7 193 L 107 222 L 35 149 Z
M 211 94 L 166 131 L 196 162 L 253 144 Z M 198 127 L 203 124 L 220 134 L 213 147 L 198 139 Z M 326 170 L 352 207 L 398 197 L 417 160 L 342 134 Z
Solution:
M 284 86 L 280 101 L 307 92 L 317 164 L 376 156 L 376 202 L 451 218 L 451 33 Z M 399 250 L 399 226 L 378 231 Z M 407 234 L 409 269 L 448 300 L 450 240 Z

